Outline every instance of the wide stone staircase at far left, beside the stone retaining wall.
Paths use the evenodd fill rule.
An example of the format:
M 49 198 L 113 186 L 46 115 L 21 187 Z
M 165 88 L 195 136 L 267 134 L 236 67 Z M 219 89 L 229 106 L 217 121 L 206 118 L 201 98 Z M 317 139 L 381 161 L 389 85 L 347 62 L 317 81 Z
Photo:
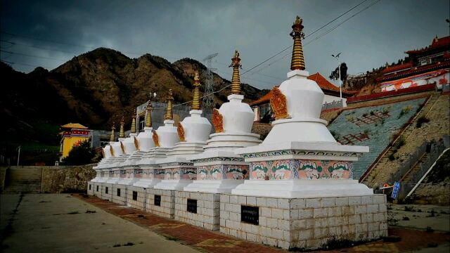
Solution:
M 40 193 L 42 169 L 39 167 L 9 167 L 3 193 Z

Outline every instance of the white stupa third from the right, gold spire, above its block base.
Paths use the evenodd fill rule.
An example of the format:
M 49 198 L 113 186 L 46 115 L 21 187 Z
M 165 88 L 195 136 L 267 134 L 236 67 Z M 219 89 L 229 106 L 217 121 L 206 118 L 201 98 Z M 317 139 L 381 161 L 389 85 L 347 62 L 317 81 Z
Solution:
M 193 102 L 191 116 L 183 119 L 177 126 L 179 143 L 167 153 L 167 158 L 160 160 L 158 164 L 165 170 L 165 177 L 155 186 L 162 190 L 183 190 L 196 178 L 197 169 L 189 160 L 194 154 L 203 153 L 207 138 L 211 132 L 211 124 L 201 117 L 200 110 L 200 79 L 198 72 L 194 76 Z

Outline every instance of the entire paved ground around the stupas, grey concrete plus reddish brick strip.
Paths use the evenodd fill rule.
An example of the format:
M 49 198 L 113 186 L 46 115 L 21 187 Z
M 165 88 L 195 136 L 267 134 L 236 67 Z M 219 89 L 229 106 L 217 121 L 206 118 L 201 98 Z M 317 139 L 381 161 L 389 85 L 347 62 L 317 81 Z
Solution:
M 21 198 L 20 195 L 0 195 L 0 201 L 0 240 L 4 252 L 198 252 L 195 249 L 218 253 L 287 252 L 97 197 L 36 194 Z M 439 212 L 439 216 L 425 217 L 435 218 L 428 223 L 435 224 L 432 225 L 435 230 L 445 231 L 446 227 L 439 224 L 449 223 L 447 216 L 442 219 L 446 214 L 441 212 L 445 210 L 430 208 L 434 208 L 435 213 Z M 397 210 L 395 216 L 404 215 L 402 209 L 403 206 L 392 208 Z M 420 209 L 431 215 L 431 210 L 428 213 L 425 207 Z M 417 220 L 415 222 L 422 226 L 420 219 Z M 326 252 L 450 252 L 449 232 L 396 227 L 390 228 L 389 233 L 399 236 L 401 241 L 370 242 Z

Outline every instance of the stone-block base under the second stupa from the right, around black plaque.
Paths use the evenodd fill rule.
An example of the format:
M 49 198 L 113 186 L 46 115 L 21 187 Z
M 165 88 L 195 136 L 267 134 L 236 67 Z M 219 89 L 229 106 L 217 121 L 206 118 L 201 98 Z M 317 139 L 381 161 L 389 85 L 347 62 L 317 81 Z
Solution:
M 196 202 L 195 212 L 188 211 L 188 200 Z M 211 231 L 219 230 L 220 194 L 176 191 L 175 219 Z

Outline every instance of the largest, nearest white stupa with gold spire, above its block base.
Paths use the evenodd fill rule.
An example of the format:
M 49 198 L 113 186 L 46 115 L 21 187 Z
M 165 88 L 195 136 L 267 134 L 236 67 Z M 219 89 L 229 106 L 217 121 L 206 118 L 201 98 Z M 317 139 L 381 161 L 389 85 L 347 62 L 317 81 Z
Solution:
M 368 147 L 340 145 L 320 119 L 323 91 L 307 79 L 301 44 L 302 20 L 297 17 L 288 79 L 275 87 L 271 107 L 276 120 L 264 142 L 236 153 L 250 162 L 250 180 L 232 190 L 262 197 L 334 197 L 372 195 L 352 179 L 353 162 Z

